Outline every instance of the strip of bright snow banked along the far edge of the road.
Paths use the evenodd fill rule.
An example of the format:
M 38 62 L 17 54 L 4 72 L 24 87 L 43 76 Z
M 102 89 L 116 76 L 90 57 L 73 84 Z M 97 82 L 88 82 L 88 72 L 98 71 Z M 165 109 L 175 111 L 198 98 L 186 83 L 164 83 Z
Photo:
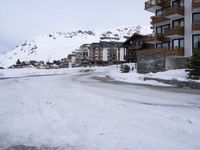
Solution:
M 129 64 L 132 68 L 134 64 Z M 95 72 L 103 73 L 114 80 L 123 81 L 128 83 L 135 84 L 146 84 L 153 86 L 166 86 L 169 87 L 171 85 L 163 84 L 161 82 L 146 80 L 145 77 L 149 78 L 158 78 L 165 80 L 178 80 L 178 81 L 193 81 L 199 82 L 200 80 L 190 80 L 187 79 L 187 72 L 185 69 L 177 69 L 177 70 L 169 70 L 165 72 L 158 73 L 148 73 L 148 74 L 138 74 L 136 70 L 131 70 L 129 73 L 121 73 L 119 69 L 119 65 L 113 65 L 108 67 L 80 67 L 80 68 L 67 68 L 67 69 L 35 69 L 35 68 L 24 68 L 24 69 L 3 69 L 0 70 L 0 78 L 8 78 L 8 77 L 26 77 L 26 76 L 34 76 L 34 75 L 63 75 L 69 73 L 77 73 L 81 70 L 95 70 Z

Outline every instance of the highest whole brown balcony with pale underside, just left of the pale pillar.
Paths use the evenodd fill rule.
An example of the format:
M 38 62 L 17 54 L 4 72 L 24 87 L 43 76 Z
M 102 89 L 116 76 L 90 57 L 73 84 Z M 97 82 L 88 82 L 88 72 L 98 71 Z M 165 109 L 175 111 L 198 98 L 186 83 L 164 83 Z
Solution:
M 184 16 L 184 7 L 183 6 L 174 6 L 169 7 L 165 10 L 165 17 L 169 19 L 175 19 L 178 17 Z

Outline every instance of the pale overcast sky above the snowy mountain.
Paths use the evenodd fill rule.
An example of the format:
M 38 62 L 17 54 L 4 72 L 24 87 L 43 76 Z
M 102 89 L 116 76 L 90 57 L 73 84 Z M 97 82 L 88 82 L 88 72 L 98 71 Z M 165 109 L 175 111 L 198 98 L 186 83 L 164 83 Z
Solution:
M 149 25 L 146 0 L 0 0 L 0 53 L 40 34 Z

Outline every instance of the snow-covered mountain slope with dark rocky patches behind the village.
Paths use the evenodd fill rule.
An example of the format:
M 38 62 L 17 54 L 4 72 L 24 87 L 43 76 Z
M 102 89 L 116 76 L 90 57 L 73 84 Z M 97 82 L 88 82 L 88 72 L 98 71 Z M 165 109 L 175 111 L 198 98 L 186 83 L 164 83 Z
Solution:
M 120 27 L 106 32 L 94 32 L 90 30 L 78 30 L 75 32 L 56 32 L 53 34 L 41 35 L 24 41 L 15 49 L 0 55 L 0 66 L 9 67 L 16 63 L 17 59 L 36 60 L 51 62 L 67 57 L 73 50 L 78 49 L 82 44 L 101 41 L 121 41 L 133 33 L 150 33 L 149 26 Z

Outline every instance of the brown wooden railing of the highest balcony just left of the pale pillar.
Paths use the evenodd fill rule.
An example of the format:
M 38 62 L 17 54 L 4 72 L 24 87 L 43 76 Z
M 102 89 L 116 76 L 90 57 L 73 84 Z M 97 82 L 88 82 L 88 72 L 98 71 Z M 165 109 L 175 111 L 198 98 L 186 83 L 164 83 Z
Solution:
M 166 10 L 165 10 L 165 16 L 166 17 L 170 17 L 170 16 L 173 16 L 173 15 L 176 15 L 176 14 L 184 16 L 184 7 L 177 5 L 177 6 L 166 8 Z

